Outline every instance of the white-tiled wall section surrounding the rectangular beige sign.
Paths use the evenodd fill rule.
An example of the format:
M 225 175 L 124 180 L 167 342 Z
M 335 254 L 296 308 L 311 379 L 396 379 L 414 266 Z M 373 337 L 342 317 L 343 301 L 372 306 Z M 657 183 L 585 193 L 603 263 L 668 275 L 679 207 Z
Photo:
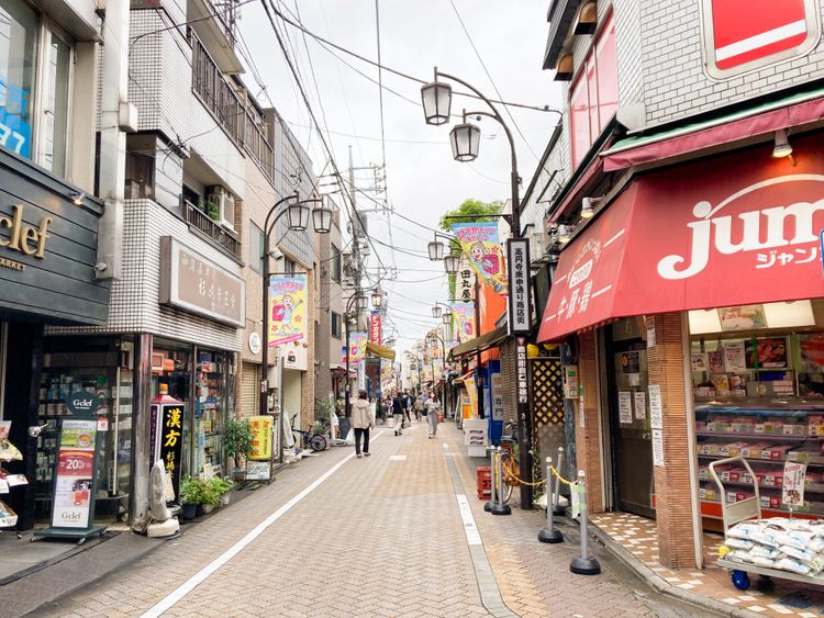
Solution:
M 172 236 L 221 268 L 242 276 L 237 262 L 190 232 L 181 218 L 152 200 L 129 200 L 123 229 L 123 277 L 112 283 L 105 326 L 47 327 L 47 334 L 151 333 L 241 351 L 241 329 L 158 304 L 162 236 Z

